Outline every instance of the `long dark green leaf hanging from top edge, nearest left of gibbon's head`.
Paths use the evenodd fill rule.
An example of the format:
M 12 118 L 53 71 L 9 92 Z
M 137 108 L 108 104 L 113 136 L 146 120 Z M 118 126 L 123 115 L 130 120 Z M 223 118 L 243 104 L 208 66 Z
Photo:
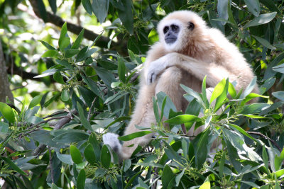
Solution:
M 132 1 L 131 0 L 121 0 L 124 4 L 124 9 L 118 9 L 119 18 L 126 28 L 126 30 L 132 35 L 133 34 L 133 13 L 132 13 Z

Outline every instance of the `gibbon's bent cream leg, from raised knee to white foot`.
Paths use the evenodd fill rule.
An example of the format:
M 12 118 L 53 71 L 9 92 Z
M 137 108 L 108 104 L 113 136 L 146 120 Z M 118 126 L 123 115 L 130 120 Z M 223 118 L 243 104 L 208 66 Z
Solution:
M 124 135 L 141 131 L 138 130 L 135 125 L 151 127 L 151 125 L 155 123 L 152 97 L 160 91 L 163 91 L 170 96 L 177 110 L 182 110 L 182 94 L 185 92 L 180 87 L 181 79 L 181 69 L 178 69 L 177 67 L 170 67 L 160 74 L 160 78 L 157 79 L 155 83 L 151 85 L 141 84 L 136 101 L 136 108 L 131 116 L 131 122 L 128 127 L 126 127 Z M 121 144 L 117 139 L 117 134 L 107 133 L 104 134 L 103 141 L 104 144 L 109 144 L 111 149 L 119 154 L 120 159 L 129 159 L 136 147 L 138 147 L 138 145 L 144 146 L 148 144 L 151 137 L 153 137 L 153 134 L 147 134 L 143 137 L 126 141 L 121 147 Z M 132 147 L 129 147 L 131 145 Z

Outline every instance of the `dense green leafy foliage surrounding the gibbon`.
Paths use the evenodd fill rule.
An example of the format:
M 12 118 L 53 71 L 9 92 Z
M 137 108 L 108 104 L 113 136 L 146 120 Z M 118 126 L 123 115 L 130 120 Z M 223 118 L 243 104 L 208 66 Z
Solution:
M 38 2 L 42 2 L 39 8 L 45 20 L 49 7 Z M 49 1 L 55 13 L 54 2 Z M 52 96 L 48 96 L 50 91 L 37 93 L 30 102 L 18 100 L 20 110 L 0 103 L 0 176 L 8 187 L 156 188 L 157 181 L 163 188 L 283 187 L 282 1 L 82 0 L 74 1 L 74 8 L 80 3 L 100 23 L 111 21 L 112 25 L 87 46 L 85 31 L 72 42 L 66 23 L 57 43 L 41 41 L 47 50 L 39 61 L 48 67 L 37 78 L 52 78 L 55 85 L 61 85 L 60 91 Z M 7 4 L 4 1 L 1 7 Z M 158 93 L 153 98 L 157 124 L 149 125 L 156 138 L 120 163 L 114 151 L 102 143 L 102 134 L 123 135 L 136 100 L 135 76 L 149 45 L 157 40 L 155 26 L 163 13 L 179 9 L 196 11 L 209 25 L 222 30 L 239 46 L 257 79 L 239 93 L 224 79 L 214 88 L 210 101 L 206 78 L 202 93 L 182 86 L 190 101 L 185 113 L 176 112 L 170 98 Z M 3 22 L 1 27 L 9 25 Z M 96 45 L 99 38 L 111 33 L 109 48 Z M 125 53 L 129 56 L 111 50 L 116 37 L 127 41 Z M 256 83 L 260 94 L 251 93 Z M 248 104 L 253 98 L 259 102 Z M 63 103 L 67 111 L 40 116 L 53 103 Z M 200 112 L 203 116 L 197 117 Z M 163 117 L 170 130 L 163 129 Z M 187 131 L 191 127 L 205 130 L 195 138 L 187 137 L 182 124 Z M 120 139 L 147 134 L 145 129 Z M 222 145 L 212 156 L 214 141 Z

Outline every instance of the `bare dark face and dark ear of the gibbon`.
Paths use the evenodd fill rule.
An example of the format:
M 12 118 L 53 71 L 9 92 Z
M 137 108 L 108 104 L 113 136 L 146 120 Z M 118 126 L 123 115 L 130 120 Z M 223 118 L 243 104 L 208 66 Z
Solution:
M 195 24 L 189 22 L 187 25 L 188 30 L 193 30 L 195 28 Z M 178 40 L 178 33 L 180 32 L 180 26 L 176 24 L 165 25 L 163 28 L 163 33 L 165 35 L 165 42 L 167 44 L 173 44 L 176 40 Z

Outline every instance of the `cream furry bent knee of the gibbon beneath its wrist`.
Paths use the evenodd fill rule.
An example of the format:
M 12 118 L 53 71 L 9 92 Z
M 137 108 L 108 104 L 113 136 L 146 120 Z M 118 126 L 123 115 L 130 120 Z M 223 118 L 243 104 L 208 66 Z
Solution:
M 182 98 L 184 91 L 180 87 L 182 81 L 182 70 L 178 67 L 165 69 L 158 78 L 155 86 L 155 94 L 163 91 L 175 104 L 177 110 L 182 110 Z

